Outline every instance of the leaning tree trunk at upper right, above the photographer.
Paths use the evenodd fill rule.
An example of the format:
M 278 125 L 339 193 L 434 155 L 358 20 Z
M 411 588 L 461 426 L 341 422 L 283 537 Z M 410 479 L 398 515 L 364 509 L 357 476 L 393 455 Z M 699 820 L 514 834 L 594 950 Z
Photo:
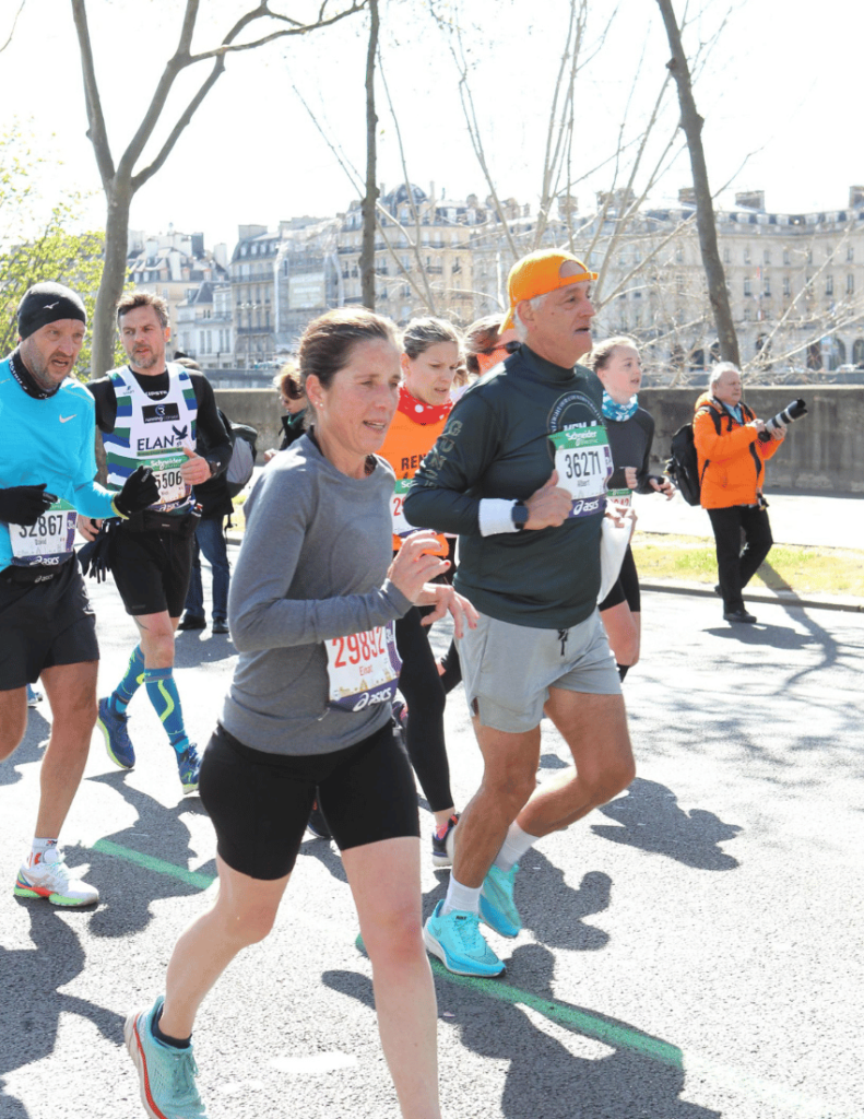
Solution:
M 708 300 L 717 328 L 720 356 L 724 361 L 734 361 L 740 367 L 741 358 L 738 349 L 738 336 L 732 322 L 732 309 L 729 305 L 726 276 L 720 260 L 717 248 L 717 229 L 714 222 L 714 203 L 708 186 L 708 171 L 705 166 L 705 152 L 702 147 L 702 125 L 705 123 L 696 112 L 693 97 L 693 83 L 689 66 L 684 54 L 680 29 L 673 11 L 672 0 L 657 0 L 669 39 L 672 59 L 667 63 L 672 76 L 678 87 L 680 104 L 680 126 L 687 138 L 687 150 L 693 170 L 693 188 L 696 196 L 696 227 L 699 234 L 702 266 L 708 285 Z

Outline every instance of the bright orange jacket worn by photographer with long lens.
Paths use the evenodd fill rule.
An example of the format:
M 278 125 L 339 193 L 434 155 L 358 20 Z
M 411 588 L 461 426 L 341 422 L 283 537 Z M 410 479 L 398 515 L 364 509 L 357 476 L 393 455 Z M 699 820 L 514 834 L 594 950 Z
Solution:
M 779 443 L 759 442 L 759 433 L 746 426 L 754 413 L 741 403 L 743 423 L 703 393 L 696 401 L 693 420 L 693 442 L 696 445 L 701 505 L 703 509 L 729 509 L 733 505 L 755 505 L 764 485 L 764 462 L 776 453 Z

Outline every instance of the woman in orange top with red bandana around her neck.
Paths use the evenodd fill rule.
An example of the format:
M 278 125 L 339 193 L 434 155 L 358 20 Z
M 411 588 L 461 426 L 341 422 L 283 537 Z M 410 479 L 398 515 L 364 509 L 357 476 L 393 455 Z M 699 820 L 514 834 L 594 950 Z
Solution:
M 402 337 L 400 402 L 378 454 L 396 472 L 393 495 L 393 551 L 405 536 L 416 532 L 402 513 L 402 501 L 423 458 L 444 430 L 453 402 L 450 389 L 459 368 L 460 339 L 456 327 L 441 319 L 412 319 Z M 439 546 L 452 551 L 443 536 Z M 452 560 L 452 555 L 450 556 Z M 402 657 L 400 692 L 410 717 L 396 712 L 405 731 L 405 746 L 429 807 L 435 817 L 432 862 L 450 866 L 452 831 L 459 815 L 450 791 L 450 767 L 444 745 L 444 689 L 438 665 L 423 628 L 421 611 L 414 606 L 396 622 L 396 648 Z M 404 708 L 403 708 L 404 709 Z

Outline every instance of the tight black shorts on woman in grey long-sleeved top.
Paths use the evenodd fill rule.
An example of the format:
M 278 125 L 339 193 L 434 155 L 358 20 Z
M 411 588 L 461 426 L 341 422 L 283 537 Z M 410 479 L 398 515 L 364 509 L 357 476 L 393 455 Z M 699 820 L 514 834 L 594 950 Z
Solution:
M 420 836 L 414 777 L 389 721 L 354 746 L 311 755 L 252 750 L 219 723 L 198 790 L 219 855 L 253 878 L 291 873 L 316 797 L 340 850 Z

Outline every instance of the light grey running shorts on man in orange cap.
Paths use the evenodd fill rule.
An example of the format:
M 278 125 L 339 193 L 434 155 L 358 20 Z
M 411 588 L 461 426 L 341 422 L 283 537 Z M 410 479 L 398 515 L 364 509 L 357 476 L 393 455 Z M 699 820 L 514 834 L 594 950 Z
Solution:
M 567 630 L 514 626 L 480 614 L 477 629 L 467 629 L 457 647 L 469 709 L 496 731 L 533 731 L 552 687 L 621 694 L 597 610 Z

